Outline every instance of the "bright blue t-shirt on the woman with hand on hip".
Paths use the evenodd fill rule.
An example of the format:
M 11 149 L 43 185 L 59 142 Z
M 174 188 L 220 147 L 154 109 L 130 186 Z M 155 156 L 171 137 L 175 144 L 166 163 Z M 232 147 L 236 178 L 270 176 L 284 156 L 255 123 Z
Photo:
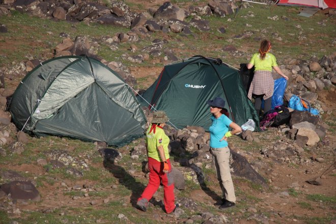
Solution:
M 221 115 L 219 118 L 211 117 L 212 125 L 209 128 L 210 132 L 210 147 L 211 148 L 224 148 L 228 146 L 228 142 L 219 140 L 229 131 L 229 126 L 232 121 L 225 115 Z

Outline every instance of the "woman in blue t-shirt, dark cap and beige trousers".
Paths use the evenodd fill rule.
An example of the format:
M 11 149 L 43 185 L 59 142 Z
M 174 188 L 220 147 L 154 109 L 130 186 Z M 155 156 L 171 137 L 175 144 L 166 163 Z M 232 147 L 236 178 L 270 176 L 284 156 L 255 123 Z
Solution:
M 224 114 L 225 101 L 222 98 L 216 97 L 213 100 L 208 100 L 207 103 L 210 105 L 210 113 L 213 115 L 211 117 L 212 125 L 209 128 L 210 151 L 223 194 L 219 208 L 226 209 L 235 206 L 236 203 L 235 189 L 230 174 L 230 149 L 227 139 L 233 134 L 241 132 L 241 128 Z M 232 128 L 231 131 L 229 131 L 229 127 Z

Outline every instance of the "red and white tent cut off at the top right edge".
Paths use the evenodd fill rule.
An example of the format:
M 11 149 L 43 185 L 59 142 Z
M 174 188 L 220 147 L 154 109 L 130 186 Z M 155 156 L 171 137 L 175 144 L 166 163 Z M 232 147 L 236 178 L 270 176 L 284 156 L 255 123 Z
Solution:
M 317 8 L 333 8 L 336 9 L 335 0 L 279 0 L 279 6 L 308 6 Z

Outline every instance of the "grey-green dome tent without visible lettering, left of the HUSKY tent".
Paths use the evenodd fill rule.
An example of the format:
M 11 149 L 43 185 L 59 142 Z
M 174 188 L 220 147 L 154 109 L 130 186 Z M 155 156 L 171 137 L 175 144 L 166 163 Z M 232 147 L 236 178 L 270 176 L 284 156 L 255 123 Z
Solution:
M 58 135 L 122 146 L 144 134 L 146 118 L 116 72 L 87 56 L 41 63 L 13 94 L 14 124 L 37 136 Z

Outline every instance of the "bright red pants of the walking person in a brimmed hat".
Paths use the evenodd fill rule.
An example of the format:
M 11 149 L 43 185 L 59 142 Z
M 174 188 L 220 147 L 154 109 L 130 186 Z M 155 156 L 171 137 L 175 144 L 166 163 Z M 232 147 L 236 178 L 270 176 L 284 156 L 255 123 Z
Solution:
M 163 184 L 164 192 L 164 208 L 166 213 L 171 213 L 175 209 L 175 196 L 174 196 L 174 180 L 171 175 L 172 166 L 169 159 L 167 159 L 169 165 L 169 173 L 163 173 L 163 163 L 148 157 L 148 169 L 149 169 L 149 182 L 141 197 L 137 200 L 147 201 L 151 200 L 153 194 L 160 186 L 160 182 Z

